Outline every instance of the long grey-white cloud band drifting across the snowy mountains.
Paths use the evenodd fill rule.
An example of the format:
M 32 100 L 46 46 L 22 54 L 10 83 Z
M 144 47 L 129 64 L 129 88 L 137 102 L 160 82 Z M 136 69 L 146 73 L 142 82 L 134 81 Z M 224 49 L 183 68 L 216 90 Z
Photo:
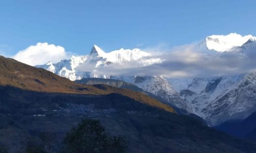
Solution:
M 81 65 L 80 70 L 97 70 L 108 75 L 163 75 L 166 78 L 217 77 L 256 71 L 256 42 L 235 48 L 231 52 L 200 50 L 192 45 L 170 49 L 170 52 L 155 54 L 150 58 L 160 58 L 161 63 L 138 66 L 129 62 L 97 67 L 94 64 Z M 147 57 L 148 59 L 148 57 Z

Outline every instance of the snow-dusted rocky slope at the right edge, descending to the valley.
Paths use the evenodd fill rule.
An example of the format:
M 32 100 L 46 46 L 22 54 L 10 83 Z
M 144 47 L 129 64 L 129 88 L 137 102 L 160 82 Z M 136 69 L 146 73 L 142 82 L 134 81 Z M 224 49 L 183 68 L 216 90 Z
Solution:
M 226 120 L 245 119 L 256 111 L 256 73 L 246 75 L 233 89 L 216 98 L 203 109 L 209 125 Z

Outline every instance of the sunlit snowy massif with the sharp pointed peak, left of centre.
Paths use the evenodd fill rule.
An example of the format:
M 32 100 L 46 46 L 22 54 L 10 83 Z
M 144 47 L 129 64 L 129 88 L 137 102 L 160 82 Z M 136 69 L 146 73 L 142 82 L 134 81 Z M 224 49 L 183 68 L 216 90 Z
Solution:
M 159 58 L 151 58 L 151 54 L 142 52 L 139 49 L 119 49 L 110 53 L 105 53 L 97 45 L 94 45 L 91 49 L 91 53 L 85 56 L 72 56 L 69 60 L 61 60 L 60 62 L 53 64 L 48 62 L 45 65 L 37 65 L 36 67 L 47 69 L 53 73 L 66 77 L 71 81 L 80 80 L 82 78 L 110 78 L 110 75 L 101 75 L 97 73 L 94 68 L 106 67 L 110 64 L 125 64 L 132 63 L 137 66 L 146 66 L 155 63 L 161 63 Z M 77 70 L 79 65 L 92 66 L 92 71 L 80 71 Z

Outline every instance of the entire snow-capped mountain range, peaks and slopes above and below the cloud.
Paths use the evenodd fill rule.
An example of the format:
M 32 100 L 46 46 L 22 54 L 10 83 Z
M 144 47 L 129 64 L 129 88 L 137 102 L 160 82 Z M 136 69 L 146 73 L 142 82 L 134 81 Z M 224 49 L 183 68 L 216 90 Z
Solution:
M 239 52 L 250 56 L 256 50 L 256 37 L 236 33 L 226 36 L 212 35 L 195 46 L 195 49 L 220 54 Z M 216 52 L 211 52 L 212 50 Z M 245 81 L 253 78 L 253 73 L 213 78 L 167 79 L 161 76 L 109 75 L 97 70 L 113 64 L 139 67 L 161 62 L 163 59 L 155 58 L 140 49 L 121 48 L 105 53 L 94 45 L 89 55 L 72 56 L 69 60 L 61 60 L 56 64 L 48 62 L 36 67 L 45 68 L 72 81 L 82 78 L 108 78 L 132 83 L 147 92 L 161 96 L 172 106 L 201 116 L 209 125 L 217 125 L 228 119 L 244 118 L 255 111 L 253 107 L 256 104 L 254 106 L 253 100 L 256 95 L 247 96 L 247 93 L 254 91 L 254 81 Z M 83 68 L 86 70 L 81 70 Z M 245 82 L 248 86 L 243 86 Z M 246 101 L 241 100 L 245 96 L 248 97 L 245 98 Z

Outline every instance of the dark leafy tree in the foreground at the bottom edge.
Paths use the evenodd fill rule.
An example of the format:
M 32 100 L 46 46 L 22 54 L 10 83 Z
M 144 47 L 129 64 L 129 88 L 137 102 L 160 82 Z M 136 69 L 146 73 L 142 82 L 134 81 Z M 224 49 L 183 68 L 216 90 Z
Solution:
M 63 140 L 63 152 L 124 152 L 123 137 L 109 137 L 98 120 L 82 120 L 67 133 Z

